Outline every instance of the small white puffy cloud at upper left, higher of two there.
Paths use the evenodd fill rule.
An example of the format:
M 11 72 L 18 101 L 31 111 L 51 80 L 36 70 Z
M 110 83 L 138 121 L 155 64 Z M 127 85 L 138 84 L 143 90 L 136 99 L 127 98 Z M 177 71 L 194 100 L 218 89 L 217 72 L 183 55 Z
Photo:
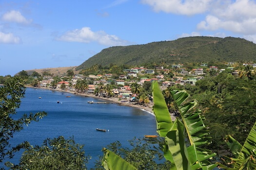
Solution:
M 20 24 L 30 24 L 32 23 L 32 20 L 28 20 L 25 17 L 21 15 L 19 11 L 9 11 L 5 14 L 3 14 L 2 19 L 8 22 L 16 22 Z

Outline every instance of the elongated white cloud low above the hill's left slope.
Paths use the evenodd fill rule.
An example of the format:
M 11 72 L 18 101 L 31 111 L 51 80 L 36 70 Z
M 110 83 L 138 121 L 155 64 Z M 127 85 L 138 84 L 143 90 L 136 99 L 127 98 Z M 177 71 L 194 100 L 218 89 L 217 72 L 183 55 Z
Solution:
M 89 27 L 68 31 L 56 39 L 59 41 L 82 43 L 90 43 L 94 41 L 105 46 L 128 45 L 128 41 L 122 40 L 116 35 L 106 34 L 104 31 L 93 32 Z

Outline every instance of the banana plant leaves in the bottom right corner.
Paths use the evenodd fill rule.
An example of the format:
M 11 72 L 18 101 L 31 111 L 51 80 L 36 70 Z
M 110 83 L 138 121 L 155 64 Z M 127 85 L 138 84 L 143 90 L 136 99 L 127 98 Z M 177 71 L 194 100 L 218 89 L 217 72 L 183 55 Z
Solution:
M 226 137 L 234 158 L 229 163 L 232 168 L 218 163 L 219 167 L 225 170 L 256 170 L 256 122 L 247 136 L 243 145 L 241 145 L 232 136 Z

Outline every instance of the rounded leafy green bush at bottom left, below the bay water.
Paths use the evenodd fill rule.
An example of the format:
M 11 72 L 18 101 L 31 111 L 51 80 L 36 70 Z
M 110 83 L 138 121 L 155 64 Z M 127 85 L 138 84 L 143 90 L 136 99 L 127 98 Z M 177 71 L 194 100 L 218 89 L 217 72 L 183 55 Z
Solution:
M 59 136 L 46 139 L 41 146 L 30 146 L 21 156 L 19 165 L 6 163 L 11 170 L 86 170 L 90 156 L 74 138 Z

